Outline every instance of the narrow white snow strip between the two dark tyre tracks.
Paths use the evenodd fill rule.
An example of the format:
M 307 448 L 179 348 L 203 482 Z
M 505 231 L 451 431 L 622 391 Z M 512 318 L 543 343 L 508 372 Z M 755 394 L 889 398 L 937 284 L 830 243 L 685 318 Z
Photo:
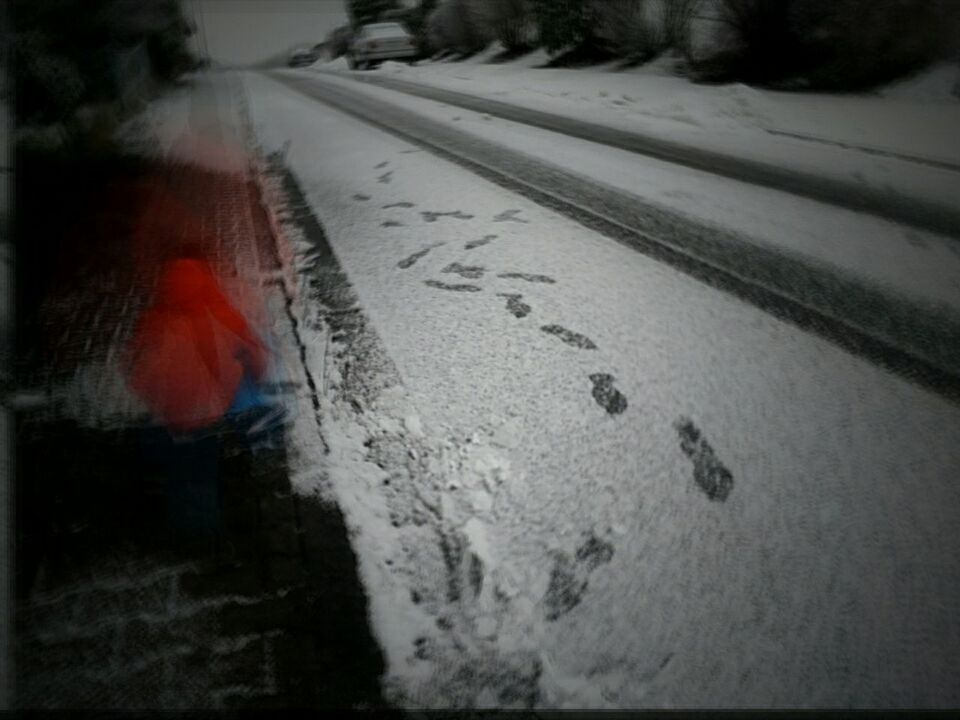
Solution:
M 302 78 L 306 73 L 281 74 Z M 960 309 L 960 253 L 951 238 L 389 89 L 330 77 L 323 82 L 453 124 L 669 212 L 769 244 L 781 254 L 820 261 L 902 296 Z

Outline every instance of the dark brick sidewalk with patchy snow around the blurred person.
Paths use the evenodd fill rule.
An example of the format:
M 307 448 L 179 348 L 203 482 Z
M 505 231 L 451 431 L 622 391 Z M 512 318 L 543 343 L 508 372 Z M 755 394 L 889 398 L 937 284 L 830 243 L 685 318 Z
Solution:
M 65 223 L 79 230 L 48 240 L 36 377 L 52 403 L 18 426 L 21 709 L 381 704 L 339 511 L 294 493 L 285 449 L 251 454 L 226 436 L 223 531 L 216 544 L 171 543 L 163 474 L 119 373 L 157 260 L 186 240 L 255 290 L 245 309 L 279 336 L 281 374 L 300 391 L 275 238 L 243 155 L 227 149 L 243 149 L 235 100 L 207 78 L 161 99 L 139 124 L 165 143 L 160 157 L 105 170 L 108 192 L 88 191 Z

